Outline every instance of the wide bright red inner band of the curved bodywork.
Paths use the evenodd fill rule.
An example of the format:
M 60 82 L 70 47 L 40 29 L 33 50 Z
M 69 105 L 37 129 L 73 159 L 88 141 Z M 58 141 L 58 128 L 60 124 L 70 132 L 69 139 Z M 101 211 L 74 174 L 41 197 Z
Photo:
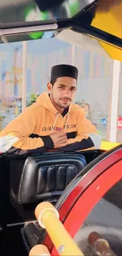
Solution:
M 122 160 L 116 162 L 115 165 L 112 165 L 105 171 L 105 173 L 98 176 L 98 179 L 94 180 L 91 186 L 87 187 L 87 190 L 79 197 L 64 223 L 65 228 L 72 238 L 76 235 L 76 232 L 79 231 L 83 221 L 86 220 L 87 215 L 91 213 L 91 210 L 97 202 L 121 178 Z M 52 250 L 52 255 L 57 255 L 57 250 L 55 248 Z

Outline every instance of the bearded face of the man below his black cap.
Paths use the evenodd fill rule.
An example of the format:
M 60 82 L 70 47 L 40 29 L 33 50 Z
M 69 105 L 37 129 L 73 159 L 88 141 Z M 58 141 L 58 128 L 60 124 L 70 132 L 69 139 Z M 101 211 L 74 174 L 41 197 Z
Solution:
M 76 94 L 76 80 L 71 77 L 57 78 L 54 85 L 48 83 L 47 87 L 54 106 L 61 109 L 66 109 Z

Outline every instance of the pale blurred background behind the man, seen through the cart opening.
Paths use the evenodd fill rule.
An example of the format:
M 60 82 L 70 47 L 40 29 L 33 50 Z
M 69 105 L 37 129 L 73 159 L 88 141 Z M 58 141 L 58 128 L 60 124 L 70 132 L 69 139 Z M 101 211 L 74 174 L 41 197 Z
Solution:
M 85 109 L 87 118 L 96 126 L 102 140 L 109 140 L 109 102 L 113 80 L 113 60 L 109 56 L 56 38 L 28 41 L 25 49 L 22 42 L 1 44 L 0 56 L 0 130 L 46 91 L 53 65 L 71 64 L 79 69 L 75 102 Z M 26 61 L 25 69 L 23 58 Z M 122 69 L 116 142 L 121 142 L 122 135 L 120 98 Z

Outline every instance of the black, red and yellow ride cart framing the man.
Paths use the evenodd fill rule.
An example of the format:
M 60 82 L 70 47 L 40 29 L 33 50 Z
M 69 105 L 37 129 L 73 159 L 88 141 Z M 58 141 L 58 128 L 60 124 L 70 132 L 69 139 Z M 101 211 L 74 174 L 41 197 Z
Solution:
M 71 31 L 98 40 L 122 61 L 121 13 L 120 0 L 4 0 L 0 43 Z M 122 254 L 121 145 L 109 151 L 1 154 L 0 192 L 1 254 Z

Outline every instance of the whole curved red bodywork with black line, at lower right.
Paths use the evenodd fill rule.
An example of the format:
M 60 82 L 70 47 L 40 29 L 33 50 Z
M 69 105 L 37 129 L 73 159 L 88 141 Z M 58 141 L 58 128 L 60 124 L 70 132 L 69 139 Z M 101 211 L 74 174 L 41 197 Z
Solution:
M 122 178 L 121 170 L 122 148 L 120 147 L 112 154 L 103 157 L 86 175 L 80 178 L 75 187 L 72 187 L 72 191 L 59 208 L 60 219 L 70 236 L 76 235 L 97 202 Z M 57 254 L 48 235 L 46 235 L 44 244 L 52 251 L 52 255 Z

